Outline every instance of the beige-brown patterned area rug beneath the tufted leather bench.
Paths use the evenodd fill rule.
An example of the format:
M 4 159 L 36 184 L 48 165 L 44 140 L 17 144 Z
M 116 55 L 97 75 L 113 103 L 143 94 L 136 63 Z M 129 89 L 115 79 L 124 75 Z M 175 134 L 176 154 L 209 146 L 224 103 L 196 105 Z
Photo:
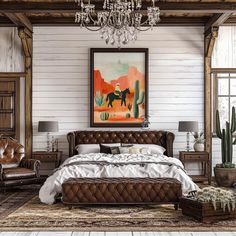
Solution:
M 236 231 L 236 220 L 199 223 L 162 206 L 83 206 L 69 210 L 58 202 L 48 206 L 35 196 L 0 220 L 3 230 L 62 231 Z

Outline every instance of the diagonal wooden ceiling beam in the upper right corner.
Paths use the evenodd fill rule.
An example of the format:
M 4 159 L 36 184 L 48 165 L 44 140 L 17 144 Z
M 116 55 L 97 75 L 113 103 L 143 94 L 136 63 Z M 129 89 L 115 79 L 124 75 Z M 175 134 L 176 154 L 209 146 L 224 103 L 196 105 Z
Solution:
M 211 34 L 211 29 L 213 27 L 219 27 L 223 25 L 232 16 L 232 14 L 233 12 L 214 14 L 205 25 L 205 36 L 207 37 L 209 34 Z

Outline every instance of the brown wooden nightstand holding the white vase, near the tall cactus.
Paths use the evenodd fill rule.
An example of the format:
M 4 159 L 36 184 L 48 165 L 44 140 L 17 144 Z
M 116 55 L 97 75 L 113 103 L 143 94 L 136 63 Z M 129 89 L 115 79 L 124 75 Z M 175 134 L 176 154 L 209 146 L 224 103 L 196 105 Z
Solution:
M 187 162 L 201 163 L 202 174 L 190 177 L 195 182 L 208 181 L 208 184 L 211 184 L 211 160 L 208 152 L 179 152 L 179 159 L 184 167 Z

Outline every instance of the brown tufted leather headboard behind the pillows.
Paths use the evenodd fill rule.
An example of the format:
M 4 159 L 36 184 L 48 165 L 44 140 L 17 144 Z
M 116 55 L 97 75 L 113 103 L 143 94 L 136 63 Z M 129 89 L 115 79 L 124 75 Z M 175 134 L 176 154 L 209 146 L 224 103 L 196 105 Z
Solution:
M 139 143 L 158 144 L 166 149 L 165 155 L 173 156 L 175 135 L 167 131 L 74 131 L 67 134 L 69 156 L 77 154 L 78 144 Z

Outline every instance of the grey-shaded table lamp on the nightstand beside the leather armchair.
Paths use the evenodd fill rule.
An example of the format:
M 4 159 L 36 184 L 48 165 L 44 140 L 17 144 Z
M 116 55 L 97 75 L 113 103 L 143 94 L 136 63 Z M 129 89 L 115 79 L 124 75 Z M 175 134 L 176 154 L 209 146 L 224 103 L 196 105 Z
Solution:
M 50 133 L 58 132 L 58 130 L 59 130 L 58 121 L 39 121 L 38 132 L 47 133 L 47 152 L 50 152 Z

